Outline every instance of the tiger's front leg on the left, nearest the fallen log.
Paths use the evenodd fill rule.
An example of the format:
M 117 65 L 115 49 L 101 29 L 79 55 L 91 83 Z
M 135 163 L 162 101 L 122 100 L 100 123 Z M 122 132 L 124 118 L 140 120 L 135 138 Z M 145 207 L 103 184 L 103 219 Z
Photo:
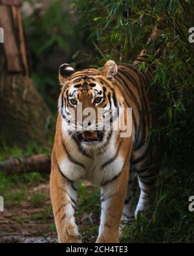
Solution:
M 78 232 L 78 226 L 74 218 L 77 198 L 76 184 L 65 179 L 58 168 L 56 163 L 52 163 L 50 174 L 50 196 L 58 231 L 58 242 L 81 242 L 81 235 Z

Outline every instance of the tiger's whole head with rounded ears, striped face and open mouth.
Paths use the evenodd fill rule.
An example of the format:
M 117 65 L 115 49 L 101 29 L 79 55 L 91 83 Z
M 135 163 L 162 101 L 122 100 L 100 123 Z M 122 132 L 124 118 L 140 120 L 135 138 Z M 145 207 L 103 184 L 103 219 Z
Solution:
M 59 114 L 63 132 L 83 147 L 100 147 L 113 133 L 120 100 L 114 86 L 117 65 L 106 62 L 101 69 L 74 71 L 59 67 Z

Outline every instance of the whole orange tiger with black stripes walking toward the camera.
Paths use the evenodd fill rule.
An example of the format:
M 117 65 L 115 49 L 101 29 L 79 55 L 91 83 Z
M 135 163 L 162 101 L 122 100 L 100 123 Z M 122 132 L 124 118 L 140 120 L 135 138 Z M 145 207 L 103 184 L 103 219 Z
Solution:
M 148 41 L 160 34 L 162 30 L 156 25 Z M 119 242 L 125 223 L 134 220 L 139 212 L 144 213 L 151 204 L 158 172 L 150 146 L 149 130 L 155 117 L 147 84 L 153 78 L 154 67 L 150 64 L 146 72 L 140 72 L 138 65 L 142 62 L 150 64 L 146 50 L 140 52 L 133 64 L 117 65 L 108 60 L 99 69 L 75 71 L 69 64 L 59 67 L 61 93 L 50 173 L 58 242 L 81 242 L 74 216 L 80 180 L 100 187 L 102 210 L 98 243 Z M 83 125 L 78 120 L 80 104 L 83 110 L 90 108 L 94 113 L 101 109 L 100 119 L 95 116 L 88 120 L 83 115 L 86 121 Z M 120 109 L 127 113 L 127 108 L 132 108 L 131 135 L 122 137 L 120 128 L 113 129 L 113 124 Z M 105 119 L 110 122 L 109 129 L 105 129 Z M 126 117 L 124 124 L 127 124 Z M 140 187 L 136 209 L 133 205 L 135 177 Z

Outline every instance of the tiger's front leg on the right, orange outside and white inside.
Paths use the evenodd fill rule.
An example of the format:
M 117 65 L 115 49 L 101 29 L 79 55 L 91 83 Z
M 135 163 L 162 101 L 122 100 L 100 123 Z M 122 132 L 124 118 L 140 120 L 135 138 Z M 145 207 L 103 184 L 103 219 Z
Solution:
M 129 178 L 127 162 L 129 161 L 126 161 L 121 175 L 101 188 L 102 213 L 96 242 L 119 242 L 119 226 Z

